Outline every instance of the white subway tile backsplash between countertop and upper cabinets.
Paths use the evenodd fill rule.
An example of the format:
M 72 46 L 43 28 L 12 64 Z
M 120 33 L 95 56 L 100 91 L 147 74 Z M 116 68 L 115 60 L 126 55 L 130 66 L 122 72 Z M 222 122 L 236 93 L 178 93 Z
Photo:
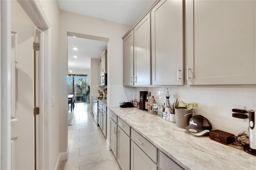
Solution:
M 249 134 L 249 119 L 232 117 L 232 109 L 256 110 L 256 87 L 133 87 L 134 98 L 139 99 L 140 91 L 151 92 L 156 102 L 164 103 L 165 94 L 171 95 L 170 102 L 176 97 L 186 103 L 198 103 L 194 108 L 195 115 L 203 115 L 212 123 L 212 130 L 223 130 L 238 135 L 240 132 Z M 132 88 L 129 89 L 132 93 Z

